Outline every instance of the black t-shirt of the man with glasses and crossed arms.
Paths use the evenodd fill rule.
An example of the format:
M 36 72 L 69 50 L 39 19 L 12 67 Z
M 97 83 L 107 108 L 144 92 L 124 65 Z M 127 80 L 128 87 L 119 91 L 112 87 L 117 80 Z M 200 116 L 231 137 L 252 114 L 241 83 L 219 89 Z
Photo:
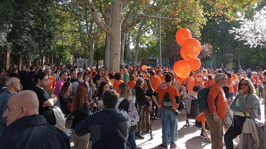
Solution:
M 41 114 L 43 111 L 48 111 L 49 107 L 43 107 L 43 103 L 50 99 L 52 94 L 51 91 L 49 91 L 49 89 L 47 89 L 46 87 L 43 87 L 43 89 L 41 89 L 37 86 L 33 87 L 32 91 L 37 94 L 39 100 L 39 114 Z

